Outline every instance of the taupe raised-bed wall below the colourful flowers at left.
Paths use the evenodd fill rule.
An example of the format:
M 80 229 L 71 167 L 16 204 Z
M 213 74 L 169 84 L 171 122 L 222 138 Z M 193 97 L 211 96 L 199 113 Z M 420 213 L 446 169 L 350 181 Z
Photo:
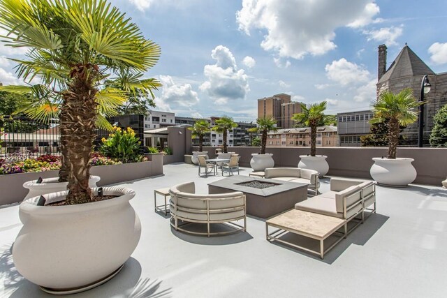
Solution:
M 163 156 L 155 157 L 155 161 L 142 163 L 123 163 L 121 165 L 98 165 L 91 167 L 90 173 L 101 177 L 98 186 L 121 183 L 135 179 L 142 179 L 163 174 Z M 57 177 L 59 171 L 46 171 L 36 173 L 21 173 L 0 175 L 0 206 L 22 202 L 28 190 L 23 188 L 26 181 L 36 180 L 38 177 Z

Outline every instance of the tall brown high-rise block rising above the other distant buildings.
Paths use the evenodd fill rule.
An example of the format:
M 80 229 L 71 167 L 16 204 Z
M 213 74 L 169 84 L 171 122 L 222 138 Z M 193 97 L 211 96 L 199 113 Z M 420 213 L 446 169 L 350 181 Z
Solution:
M 280 128 L 292 128 L 295 121 L 292 121 L 291 117 L 300 112 L 300 103 L 291 101 L 288 94 L 281 93 L 258 99 L 258 118 L 272 116 Z

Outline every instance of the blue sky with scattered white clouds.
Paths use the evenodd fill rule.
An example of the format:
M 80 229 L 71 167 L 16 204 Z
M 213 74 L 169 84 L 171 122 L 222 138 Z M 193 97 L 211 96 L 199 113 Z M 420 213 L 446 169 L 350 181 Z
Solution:
M 407 43 L 435 73 L 447 71 L 447 1 L 111 0 L 161 46 L 145 77 L 163 87 L 154 110 L 255 121 L 258 98 L 285 93 L 328 102 L 327 114 L 369 109 L 377 47 L 388 66 Z M 1 34 L 0 34 L 1 35 Z M 0 82 L 19 84 L 0 44 Z

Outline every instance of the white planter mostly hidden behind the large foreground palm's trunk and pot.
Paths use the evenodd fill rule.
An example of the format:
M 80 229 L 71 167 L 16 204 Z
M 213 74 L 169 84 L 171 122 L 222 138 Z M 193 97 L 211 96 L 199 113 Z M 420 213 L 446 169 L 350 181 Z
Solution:
M 24 188 L 28 188 L 28 194 L 24 198 L 36 197 L 38 195 L 45 195 L 47 193 L 56 193 L 57 191 L 66 191 L 68 182 L 59 182 L 59 178 L 46 178 L 42 180 L 42 183 L 37 184 L 36 180 L 27 181 L 23 184 Z M 99 176 L 91 176 L 89 179 L 89 186 L 91 188 L 96 187 L 96 182 L 101 180 Z

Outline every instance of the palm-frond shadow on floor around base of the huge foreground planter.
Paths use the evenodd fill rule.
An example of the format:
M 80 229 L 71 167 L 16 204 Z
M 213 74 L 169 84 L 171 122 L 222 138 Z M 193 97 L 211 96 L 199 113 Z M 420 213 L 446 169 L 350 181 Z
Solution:
M 54 297 L 43 292 L 37 285 L 27 281 L 15 269 L 12 245 L 0 247 L 0 278 L 3 279 L 4 293 L 11 298 L 23 297 Z M 162 290 L 161 281 L 141 278 L 141 265 L 134 258 L 129 258 L 123 269 L 107 283 L 91 289 L 65 297 L 133 297 L 133 298 L 164 298 L 172 297 L 170 288 Z

